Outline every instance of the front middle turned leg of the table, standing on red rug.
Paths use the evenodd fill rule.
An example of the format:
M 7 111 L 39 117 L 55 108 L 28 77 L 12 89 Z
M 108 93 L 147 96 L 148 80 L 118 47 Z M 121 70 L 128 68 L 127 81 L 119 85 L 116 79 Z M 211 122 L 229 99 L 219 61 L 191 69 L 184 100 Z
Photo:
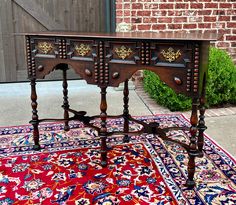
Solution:
M 106 127 L 106 119 L 107 119 L 107 101 L 106 101 L 106 87 L 101 87 L 101 104 L 100 104 L 100 118 L 101 118 L 101 129 L 100 129 L 100 137 L 101 137 L 101 165 L 103 167 L 107 166 L 107 127 Z

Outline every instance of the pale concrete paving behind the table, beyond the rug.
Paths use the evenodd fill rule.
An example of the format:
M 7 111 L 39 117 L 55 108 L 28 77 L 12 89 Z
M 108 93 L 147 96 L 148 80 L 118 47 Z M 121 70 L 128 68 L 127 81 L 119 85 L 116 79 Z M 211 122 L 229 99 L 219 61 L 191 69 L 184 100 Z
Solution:
M 121 114 L 123 93 L 109 88 L 107 94 L 108 114 Z M 31 118 L 29 83 L 0 84 L 0 126 L 28 124 Z M 38 110 L 40 118 L 61 118 L 63 110 L 61 82 L 37 83 Z M 158 106 L 144 93 L 142 86 L 130 90 L 130 113 L 150 115 L 170 113 Z M 69 101 L 71 108 L 88 111 L 89 115 L 99 114 L 99 89 L 84 81 L 69 81 Z M 190 113 L 184 113 L 189 117 Z M 236 107 L 207 110 L 206 131 L 217 143 L 236 157 Z

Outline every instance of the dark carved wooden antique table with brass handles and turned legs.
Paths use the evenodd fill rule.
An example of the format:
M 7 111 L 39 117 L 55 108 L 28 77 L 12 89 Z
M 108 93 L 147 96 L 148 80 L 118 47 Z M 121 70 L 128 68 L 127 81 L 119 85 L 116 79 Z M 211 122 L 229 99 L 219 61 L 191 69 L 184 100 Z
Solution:
M 124 134 L 124 142 L 131 134 L 157 134 L 165 140 L 174 141 L 183 146 L 189 155 L 187 186 L 194 186 L 195 157 L 203 156 L 205 86 L 208 67 L 208 48 L 210 41 L 217 40 L 215 34 L 201 33 L 75 33 L 41 32 L 27 33 L 26 54 L 28 77 L 31 81 L 32 120 L 34 149 L 40 149 L 38 125 L 47 120 L 63 120 L 65 130 L 69 130 L 70 120 L 79 120 L 86 126 L 96 129 L 101 137 L 101 165 L 107 165 L 108 136 Z M 85 111 L 70 109 L 67 89 L 68 65 L 89 84 L 101 89 L 101 114 L 86 116 Z M 39 119 L 37 114 L 36 79 L 42 79 L 54 69 L 61 69 L 63 74 L 63 119 Z M 144 123 L 132 118 L 128 110 L 128 79 L 139 69 L 155 72 L 162 81 L 176 92 L 192 98 L 190 118 L 190 143 L 185 144 L 168 139 L 168 129 L 161 129 L 158 123 Z M 124 86 L 124 111 L 119 116 L 106 113 L 106 88 Z M 198 111 L 200 112 L 198 119 Z M 73 117 L 69 117 L 69 112 Z M 91 120 L 101 118 L 101 126 L 95 127 Z M 123 117 L 123 132 L 108 132 L 106 120 L 109 117 Z M 129 132 L 129 122 L 142 125 L 142 130 Z M 173 128 L 175 129 L 175 128 Z M 181 128 L 180 128 L 181 129 Z M 187 128 L 182 128 L 187 129 Z

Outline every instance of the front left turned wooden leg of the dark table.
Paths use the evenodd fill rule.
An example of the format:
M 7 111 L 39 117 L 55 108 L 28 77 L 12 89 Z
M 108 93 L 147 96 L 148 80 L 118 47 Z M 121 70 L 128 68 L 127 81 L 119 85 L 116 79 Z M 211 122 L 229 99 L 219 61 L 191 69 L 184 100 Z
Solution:
M 33 137 L 34 137 L 34 150 L 39 150 L 39 129 L 38 129 L 38 111 L 37 111 L 37 93 L 36 93 L 36 82 L 35 79 L 31 79 L 31 107 L 32 107 L 32 120 L 30 123 L 33 125 Z

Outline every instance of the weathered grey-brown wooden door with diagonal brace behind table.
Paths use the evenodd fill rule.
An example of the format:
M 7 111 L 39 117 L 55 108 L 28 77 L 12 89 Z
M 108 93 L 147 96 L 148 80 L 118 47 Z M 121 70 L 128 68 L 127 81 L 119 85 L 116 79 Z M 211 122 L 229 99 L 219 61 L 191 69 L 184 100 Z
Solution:
M 111 12 L 107 8 L 108 2 L 98 0 L 1 0 L 0 82 L 27 80 L 24 37 L 14 35 L 14 33 L 47 30 L 106 32 L 108 31 L 107 19 L 111 18 Z M 109 6 L 111 6 L 111 1 Z M 73 73 L 68 74 L 70 77 L 73 75 Z M 51 78 L 60 77 L 57 75 L 51 76 Z

